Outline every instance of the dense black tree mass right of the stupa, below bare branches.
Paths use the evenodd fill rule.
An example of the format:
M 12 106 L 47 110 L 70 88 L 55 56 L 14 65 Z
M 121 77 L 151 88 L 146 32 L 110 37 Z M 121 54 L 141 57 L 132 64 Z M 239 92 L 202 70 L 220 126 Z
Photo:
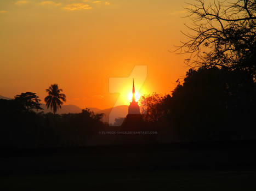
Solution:
M 190 69 L 171 95 L 141 100 L 144 120 L 170 141 L 256 138 L 256 83 L 241 70 Z

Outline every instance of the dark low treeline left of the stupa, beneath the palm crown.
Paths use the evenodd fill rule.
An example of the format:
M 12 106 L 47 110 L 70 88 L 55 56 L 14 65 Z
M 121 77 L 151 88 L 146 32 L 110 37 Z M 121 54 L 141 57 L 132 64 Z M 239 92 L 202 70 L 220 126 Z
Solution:
M 19 99 L 0 99 L 0 147 L 84 146 L 90 136 L 105 126 L 101 122 L 103 114 L 94 114 L 88 109 L 79 114 L 37 114 L 24 104 Z

